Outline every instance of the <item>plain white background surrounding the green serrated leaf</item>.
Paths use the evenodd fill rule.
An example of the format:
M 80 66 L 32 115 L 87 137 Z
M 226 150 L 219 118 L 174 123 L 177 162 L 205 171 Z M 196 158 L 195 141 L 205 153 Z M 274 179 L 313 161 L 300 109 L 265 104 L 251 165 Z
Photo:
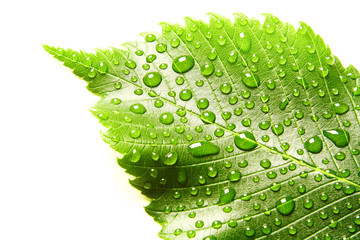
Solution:
M 155 240 L 116 153 L 90 114 L 97 97 L 41 44 L 119 47 L 161 21 L 205 13 L 272 13 L 304 21 L 344 65 L 360 69 L 358 1 L 2 1 L 0 4 L 0 239 Z

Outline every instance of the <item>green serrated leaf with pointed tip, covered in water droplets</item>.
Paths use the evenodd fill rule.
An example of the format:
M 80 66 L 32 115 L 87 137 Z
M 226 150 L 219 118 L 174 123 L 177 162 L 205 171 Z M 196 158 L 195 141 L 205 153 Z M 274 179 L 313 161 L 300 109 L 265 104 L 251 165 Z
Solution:
M 308 25 L 265 16 L 162 23 L 124 50 L 44 46 L 101 96 L 102 136 L 163 239 L 360 239 L 360 74 Z

